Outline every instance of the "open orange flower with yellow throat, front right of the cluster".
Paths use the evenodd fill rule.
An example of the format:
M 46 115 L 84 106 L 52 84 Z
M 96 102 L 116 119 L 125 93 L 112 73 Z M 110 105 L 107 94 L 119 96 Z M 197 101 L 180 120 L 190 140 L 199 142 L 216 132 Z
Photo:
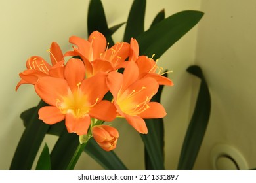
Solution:
M 139 69 L 136 63 L 129 61 L 123 75 L 108 73 L 107 84 L 114 97 L 117 116 L 127 122 L 139 133 L 148 133 L 143 118 L 163 118 L 165 109 L 160 103 L 150 102 L 158 92 L 158 82 L 146 77 L 138 80 Z

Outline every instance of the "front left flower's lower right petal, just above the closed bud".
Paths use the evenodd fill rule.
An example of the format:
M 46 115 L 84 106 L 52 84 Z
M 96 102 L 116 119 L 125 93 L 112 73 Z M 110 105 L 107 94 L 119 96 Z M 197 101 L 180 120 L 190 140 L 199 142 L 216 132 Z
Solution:
M 98 120 L 111 122 L 116 118 L 116 107 L 110 101 L 100 101 L 90 108 L 89 115 Z

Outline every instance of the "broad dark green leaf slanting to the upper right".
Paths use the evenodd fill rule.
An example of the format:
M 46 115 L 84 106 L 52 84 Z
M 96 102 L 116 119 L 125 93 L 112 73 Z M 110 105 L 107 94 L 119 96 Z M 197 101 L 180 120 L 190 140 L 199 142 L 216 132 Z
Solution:
M 202 16 L 203 12 L 186 10 L 173 14 L 152 26 L 136 37 L 140 46 L 140 55 L 151 57 L 155 54 L 154 58 L 160 58 L 166 50 L 192 29 Z

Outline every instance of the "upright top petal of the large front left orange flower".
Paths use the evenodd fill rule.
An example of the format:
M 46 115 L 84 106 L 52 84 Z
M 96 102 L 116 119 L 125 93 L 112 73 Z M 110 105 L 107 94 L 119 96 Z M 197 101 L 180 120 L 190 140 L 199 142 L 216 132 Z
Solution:
M 81 59 L 71 58 L 65 66 L 64 78 L 66 78 L 68 85 L 72 92 L 77 90 L 77 84 L 85 78 L 85 65 Z

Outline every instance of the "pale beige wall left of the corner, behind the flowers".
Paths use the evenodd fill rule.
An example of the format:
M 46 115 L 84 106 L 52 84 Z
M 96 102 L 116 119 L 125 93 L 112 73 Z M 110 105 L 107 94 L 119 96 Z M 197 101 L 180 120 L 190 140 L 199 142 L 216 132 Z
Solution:
M 1 1 L 1 106 L 0 106 L 0 169 L 9 169 L 12 156 L 24 127 L 19 115 L 24 110 L 37 105 L 39 97 L 33 86 L 21 86 L 14 91 L 20 80 L 18 73 L 25 69 L 26 59 L 33 55 L 49 60 L 46 50 L 52 41 L 68 50 L 68 37 L 87 37 L 86 20 L 89 1 Z M 102 1 L 110 26 L 127 20 L 133 1 Z M 199 10 L 200 0 L 194 1 L 153 1 L 147 2 L 146 29 L 154 16 L 163 8 L 169 16 L 181 10 Z M 206 21 L 206 20 L 205 20 Z M 176 169 L 186 125 L 190 118 L 191 88 L 194 78 L 186 73 L 186 68 L 194 63 L 196 50 L 196 28 L 178 41 L 164 56 L 160 65 L 173 70 L 169 77 L 175 82 L 172 88 L 163 91 L 163 105 L 167 109 L 166 168 Z M 121 41 L 123 29 L 115 35 Z M 116 152 L 129 169 L 144 169 L 143 148 L 140 137 L 125 122 L 115 124 L 121 137 Z M 56 137 L 47 136 L 45 142 L 53 147 Z M 127 153 L 129 152 L 129 153 Z M 91 158 L 83 154 L 77 169 L 100 169 Z

